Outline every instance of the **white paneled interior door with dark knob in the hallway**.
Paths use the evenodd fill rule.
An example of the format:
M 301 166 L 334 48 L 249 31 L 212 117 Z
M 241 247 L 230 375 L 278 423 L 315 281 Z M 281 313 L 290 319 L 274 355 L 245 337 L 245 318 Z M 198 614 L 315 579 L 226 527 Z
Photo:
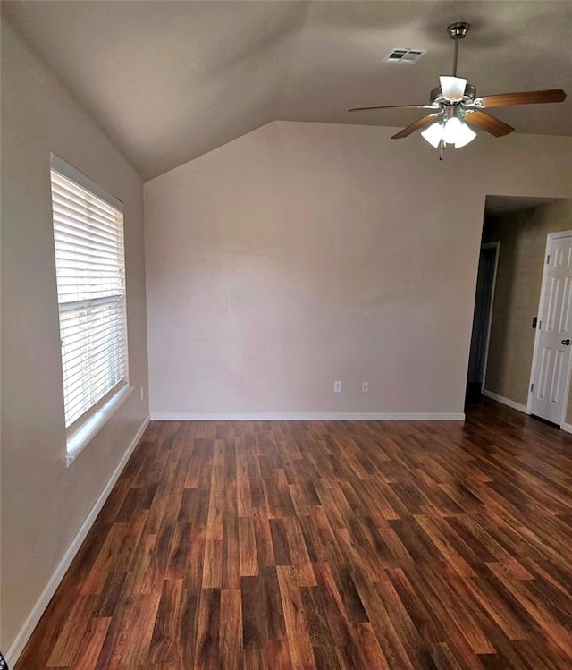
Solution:
M 572 233 L 549 235 L 536 331 L 531 413 L 564 420 L 572 338 Z

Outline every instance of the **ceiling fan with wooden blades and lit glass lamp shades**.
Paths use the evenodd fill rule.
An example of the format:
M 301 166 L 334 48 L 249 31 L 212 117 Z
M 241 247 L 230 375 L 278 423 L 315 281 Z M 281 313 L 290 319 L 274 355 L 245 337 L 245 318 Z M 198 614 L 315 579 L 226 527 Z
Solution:
M 492 114 L 483 110 L 488 107 L 511 105 L 531 105 L 547 102 L 563 102 L 566 93 L 562 89 L 531 90 L 522 93 L 500 93 L 477 98 L 476 88 L 466 79 L 457 76 L 458 42 L 467 35 L 470 25 L 464 21 L 451 23 L 447 27 L 449 37 L 454 40 L 452 75 L 439 77 L 441 86 L 431 91 L 428 105 L 390 105 L 375 107 L 353 107 L 349 112 L 363 112 L 372 109 L 432 109 L 414 123 L 410 123 L 391 137 L 400 140 L 412 132 L 422 130 L 421 135 L 434 148 L 453 146 L 461 148 L 472 140 L 476 133 L 471 125 L 489 132 L 494 137 L 502 137 L 514 131 L 514 128 Z M 425 129 L 425 130 L 423 130 Z

